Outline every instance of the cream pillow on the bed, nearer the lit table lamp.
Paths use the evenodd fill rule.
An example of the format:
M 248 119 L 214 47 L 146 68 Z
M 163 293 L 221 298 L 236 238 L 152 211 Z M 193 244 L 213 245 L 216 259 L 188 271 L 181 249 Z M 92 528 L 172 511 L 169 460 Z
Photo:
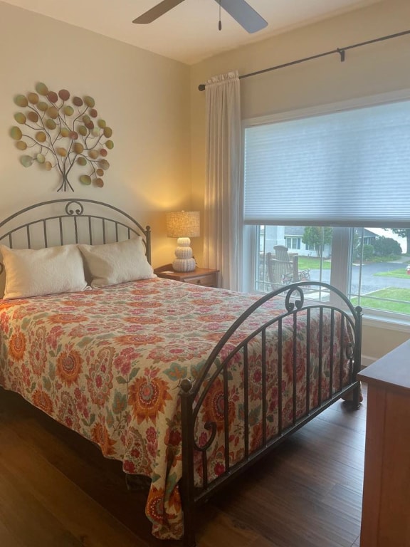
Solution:
M 157 277 L 145 256 L 141 236 L 105 245 L 78 245 L 91 276 L 92 287 L 106 287 Z

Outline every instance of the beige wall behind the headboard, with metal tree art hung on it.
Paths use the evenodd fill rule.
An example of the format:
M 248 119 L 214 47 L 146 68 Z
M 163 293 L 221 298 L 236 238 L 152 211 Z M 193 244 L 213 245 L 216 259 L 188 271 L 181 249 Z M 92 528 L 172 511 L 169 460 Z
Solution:
M 154 266 L 171 261 L 163 212 L 191 207 L 189 67 L 0 2 L 0 74 L 0 220 L 46 199 L 98 199 L 151 224 Z M 13 100 L 39 81 L 95 99 L 115 144 L 104 188 L 73 177 L 75 192 L 57 193 L 54 170 L 19 163 Z

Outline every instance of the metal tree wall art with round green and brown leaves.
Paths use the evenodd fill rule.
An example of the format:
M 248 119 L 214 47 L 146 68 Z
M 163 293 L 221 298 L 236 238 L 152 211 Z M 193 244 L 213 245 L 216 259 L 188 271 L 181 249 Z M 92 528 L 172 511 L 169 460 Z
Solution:
M 37 164 L 46 171 L 61 173 L 58 191 L 73 190 L 68 175 L 79 166 L 82 184 L 104 186 L 102 177 L 110 167 L 105 159 L 114 147 L 111 127 L 98 117 L 92 97 L 73 96 L 66 89 L 56 93 L 44 83 L 37 83 L 36 92 L 16 95 L 14 103 L 22 110 L 14 115 L 19 125 L 10 135 L 16 147 L 26 151 L 20 162 L 24 167 Z M 70 104 L 72 103 L 72 104 Z

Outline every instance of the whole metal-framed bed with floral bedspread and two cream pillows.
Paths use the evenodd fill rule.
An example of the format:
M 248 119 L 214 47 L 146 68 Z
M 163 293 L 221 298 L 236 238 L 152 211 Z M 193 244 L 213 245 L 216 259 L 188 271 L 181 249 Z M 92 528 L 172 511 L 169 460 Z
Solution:
M 147 477 L 157 538 L 193 547 L 201 503 L 333 402 L 359 406 L 362 313 L 327 283 L 160 279 L 149 226 L 90 199 L 16 212 L 0 251 L 1 387 Z

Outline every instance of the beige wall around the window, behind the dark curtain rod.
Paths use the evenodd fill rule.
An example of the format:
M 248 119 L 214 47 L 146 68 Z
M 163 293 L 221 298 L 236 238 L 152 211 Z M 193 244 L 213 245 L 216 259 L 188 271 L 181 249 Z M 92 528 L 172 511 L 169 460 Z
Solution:
M 275 36 L 203 61 L 191 70 L 192 195 L 203 203 L 205 178 L 204 93 L 211 75 L 238 69 L 240 75 L 288 63 L 337 47 L 409 30 L 410 1 L 383 0 L 374 6 Z M 308 61 L 241 80 L 242 117 L 286 112 L 340 100 L 410 88 L 410 36 Z M 199 256 L 199 261 L 201 256 Z M 363 353 L 379 358 L 409 338 L 409 330 L 365 325 Z

